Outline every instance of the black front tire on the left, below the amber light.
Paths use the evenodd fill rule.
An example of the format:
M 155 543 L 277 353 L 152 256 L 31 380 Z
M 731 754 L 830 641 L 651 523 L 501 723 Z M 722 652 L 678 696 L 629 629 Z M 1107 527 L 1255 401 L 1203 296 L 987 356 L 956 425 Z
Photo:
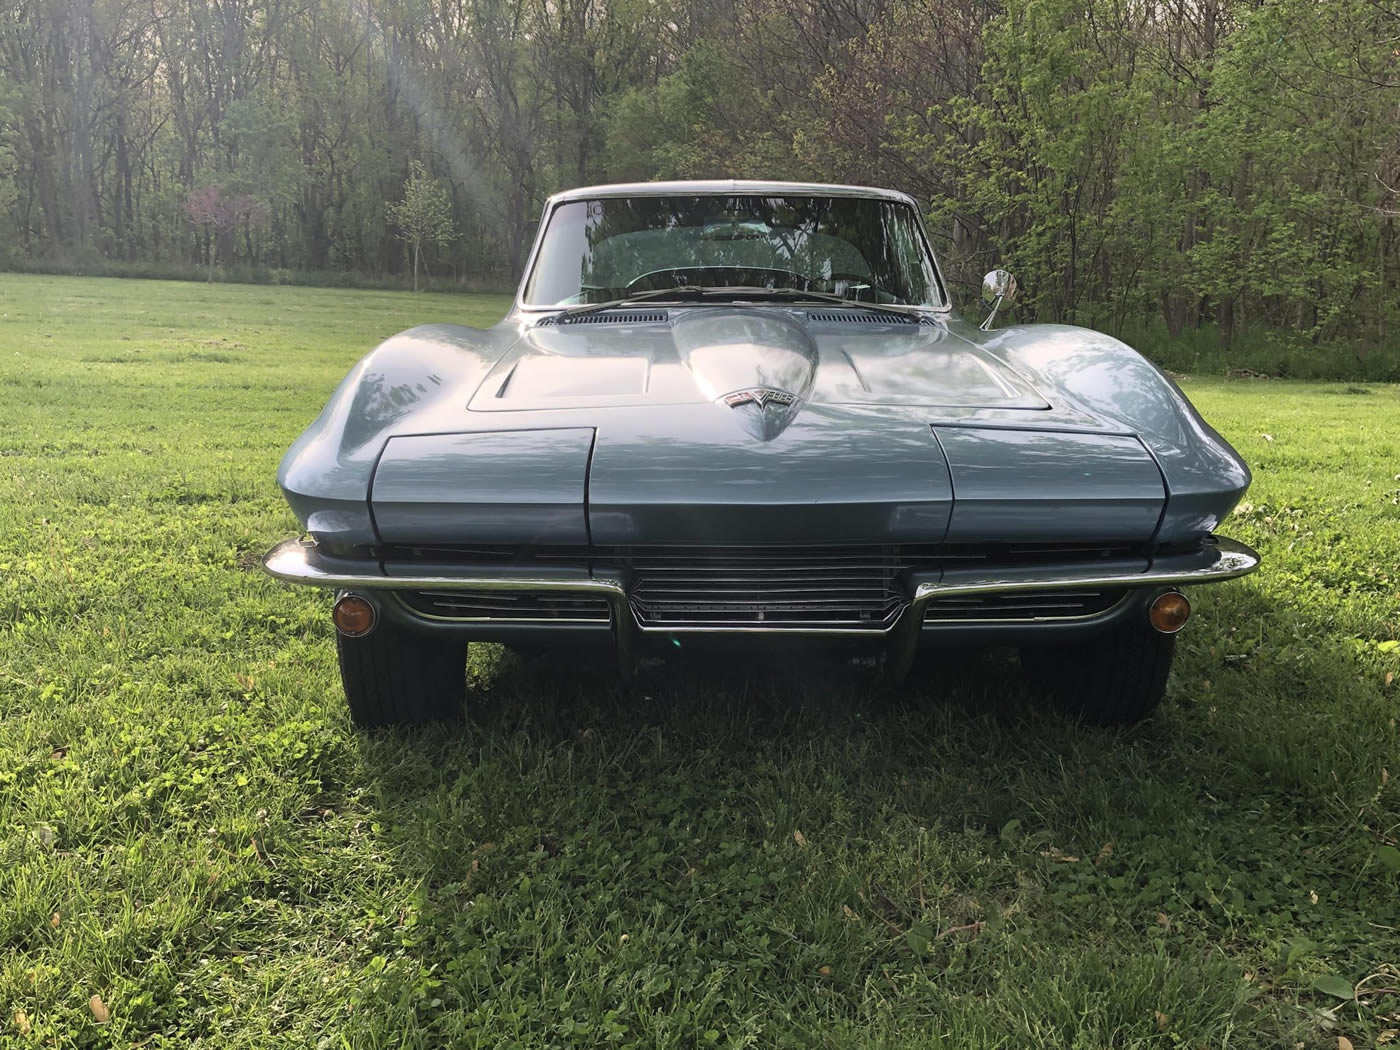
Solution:
M 451 721 L 462 714 L 466 643 L 381 620 L 361 638 L 337 633 L 336 655 L 350 718 L 361 729 Z

